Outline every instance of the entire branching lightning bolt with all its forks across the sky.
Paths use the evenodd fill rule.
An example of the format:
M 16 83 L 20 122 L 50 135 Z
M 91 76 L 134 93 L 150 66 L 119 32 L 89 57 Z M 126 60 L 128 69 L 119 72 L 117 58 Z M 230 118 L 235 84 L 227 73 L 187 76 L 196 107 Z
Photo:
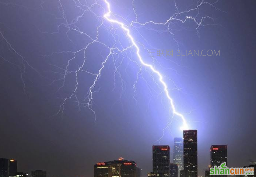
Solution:
M 168 108 L 169 108 L 169 115 L 170 116 L 168 118 L 168 123 L 167 123 L 166 127 L 163 129 L 162 137 L 164 137 L 165 130 L 170 127 L 170 125 L 172 123 L 172 120 L 175 116 L 177 116 L 182 122 L 182 126 L 180 127 L 181 130 L 189 129 L 189 125 L 187 123 L 188 121 L 185 119 L 185 116 L 176 109 L 173 98 L 171 97 L 171 94 L 169 93 L 170 90 L 173 90 L 173 89 L 181 90 L 181 88 L 179 88 L 175 84 L 175 82 L 173 82 L 172 79 L 170 79 L 167 76 L 164 76 L 159 71 L 159 69 L 157 69 L 155 64 L 158 64 L 161 67 L 162 67 L 162 65 L 160 64 L 160 62 L 156 58 L 152 57 L 152 60 L 153 60 L 152 64 L 150 64 L 148 62 L 145 62 L 145 59 L 143 59 L 143 54 L 141 54 L 141 51 L 142 50 L 149 51 L 148 48 L 145 47 L 146 44 L 147 44 L 147 46 L 150 46 L 152 49 L 154 47 L 152 47 L 148 43 L 148 41 L 145 39 L 145 37 L 138 31 L 138 29 L 136 28 L 136 25 L 138 25 L 140 27 L 143 27 L 143 28 L 146 28 L 146 29 L 150 29 L 150 30 L 154 30 L 154 29 L 151 29 L 151 28 L 148 27 L 148 25 L 150 25 L 150 24 L 164 26 L 164 28 L 166 28 L 166 29 L 161 30 L 161 31 L 155 30 L 155 32 L 157 32 L 157 33 L 164 33 L 164 32 L 168 33 L 172 37 L 173 41 L 175 41 L 177 47 L 179 48 L 180 47 L 179 42 L 178 42 L 178 40 L 176 40 L 175 34 L 173 33 L 173 30 L 171 29 L 171 23 L 173 21 L 175 21 L 175 22 L 179 22 L 179 23 L 183 24 L 186 21 L 190 20 L 190 21 L 192 21 L 196 24 L 196 32 L 197 32 L 197 35 L 199 36 L 199 27 L 200 26 L 217 25 L 217 24 L 215 24 L 214 19 L 212 17 L 210 17 L 209 15 L 206 15 L 204 17 L 199 18 L 200 7 L 203 6 L 203 5 L 206 5 L 206 6 L 214 8 L 215 10 L 221 11 L 219 8 L 214 6 L 214 4 L 217 1 L 215 3 L 209 3 L 209 2 L 204 1 L 204 0 L 199 0 L 197 2 L 197 5 L 194 8 L 191 8 L 189 10 L 180 12 L 179 8 L 177 7 L 176 1 L 174 0 L 174 6 L 176 7 L 177 12 L 175 14 L 173 14 L 171 17 L 169 17 L 169 19 L 167 19 L 164 22 L 155 22 L 155 21 L 139 22 L 138 15 L 136 13 L 137 8 L 135 6 L 134 0 L 132 0 L 132 11 L 133 11 L 133 14 L 135 16 L 135 21 L 129 22 L 127 19 L 125 19 L 121 15 L 115 14 L 113 11 L 111 11 L 111 3 L 108 0 L 94 0 L 94 3 L 92 3 L 92 4 L 88 3 L 86 0 L 85 0 L 85 4 L 81 3 L 80 0 L 72 0 L 72 2 L 75 4 L 75 6 L 77 8 L 79 8 L 82 11 L 82 13 L 69 22 L 69 20 L 66 17 L 65 6 L 64 6 L 62 0 L 58 0 L 58 1 L 59 1 L 59 11 L 60 11 L 60 14 L 61 14 L 60 16 L 61 17 L 56 17 L 55 15 L 54 16 L 55 16 L 56 19 L 59 19 L 59 18 L 64 19 L 64 22 L 62 22 L 61 24 L 58 25 L 57 31 L 54 31 L 54 32 L 42 32 L 41 30 L 39 30 L 39 31 L 41 33 L 46 34 L 46 35 L 54 35 L 54 34 L 60 32 L 59 28 L 64 27 L 64 28 L 67 29 L 66 37 L 72 44 L 75 45 L 75 42 L 69 36 L 69 33 L 71 31 L 88 37 L 88 39 L 90 39 L 90 42 L 88 42 L 84 47 L 82 47 L 82 48 L 80 48 L 79 50 L 76 50 L 76 51 L 71 51 L 71 50 L 70 51 L 58 51 L 58 52 L 54 52 L 54 53 L 49 54 L 49 55 L 42 55 L 45 58 L 53 56 L 53 55 L 59 55 L 59 54 L 71 54 L 72 55 L 72 57 L 67 61 L 67 64 L 64 67 L 49 64 L 53 67 L 56 67 L 57 69 L 60 69 L 62 72 L 46 71 L 46 72 L 57 73 L 61 76 L 59 78 L 51 80 L 51 82 L 49 83 L 49 85 L 52 85 L 52 84 L 55 84 L 56 82 L 59 82 L 59 81 L 62 82 L 61 86 L 59 86 L 57 88 L 56 93 L 58 93 L 65 86 L 67 75 L 74 74 L 75 79 L 76 79 L 74 90 L 70 93 L 70 95 L 68 97 L 62 98 L 62 103 L 59 106 L 59 110 L 53 116 L 59 115 L 59 114 L 63 116 L 63 111 L 65 109 L 66 102 L 68 100 L 70 100 L 71 98 L 72 99 L 74 98 L 74 100 L 76 100 L 76 103 L 77 103 L 78 108 L 79 108 L 78 111 L 80 111 L 80 109 L 81 109 L 80 106 L 81 105 L 87 107 L 94 114 L 94 119 L 96 121 L 96 112 L 92 108 L 93 98 L 94 98 L 93 95 L 99 91 L 99 90 L 95 89 L 95 86 L 96 86 L 98 80 L 101 78 L 102 71 L 104 70 L 105 65 L 108 61 L 112 61 L 113 66 L 114 66 L 114 73 L 113 73 L 113 76 L 114 76 L 113 82 L 114 82 L 114 84 L 113 84 L 113 90 L 112 91 L 114 91 L 115 88 L 116 88 L 115 82 L 117 80 L 117 77 L 119 77 L 120 82 L 121 82 L 121 93 L 120 93 L 119 98 L 120 98 L 120 102 L 122 104 L 121 98 L 122 98 L 123 92 L 125 91 L 126 84 L 125 84 L 125 80 L 122 77 L 121 72 L 119 72 L 119 68 L 123 63 L 123 60 L 127 58 L 127 59 L 129 59 L 129 62 L 132 62 L 132 63 L 136 64 L 136 66 L 139 68 L 138 72 L 136 73 L 136 80 L 135 80 L 135 82 L 132 86 L 133 87 L 133 99 L 136 101 L 136 103 L 137 103 L 136 87 L 137 87 L 137 83 L 138 83 L 139 78 L 144 80 L 145 84 L 147 85 L 147 87 L 150 90 L 151 97 L 152 97 L 152 92 L 157 93 L 157 91 L 154 90 L 154 88 L 151 87 L 150 83 L 148 83 L 148 81 L 146 79 L 144 79 L 143 73 L 142 73 L 144 68 L 148 68 L 148 70 L 144 69 L 144 71 L 148 73 L 148 75 L 151 77 L 152 81 L 158 86 L 159 90 L 161 90 L 160 95 L 163 93 L 165 95 L 165 98 L 168 99 L 168 102 L 169 102 Z M 39 8 L 43 9 L 44 5 L 45 5 L 45 2 L 43 0 L 41 0 L 39 3 L 40 3 Z M 3 3 L 3 2 L 1 2 L 1 0 L 0 0 L 0 4 L 6 5 L 6 6 L 11 5 L 11 6 L 18 6 L 20 8 L 26 8 L 26 7 L 23 7 L 19 4 Z M 97 15 L 97 13 L 94 12 L 93 8 L 95 6 L 101 8 L 101 10 L 104 11 L 103 16 Z M 97 29 L 96 29 L 97 30 L 97 35 L 95 37 L 92 37 L 92 35 L 89 35 L 86 32 L 83 32 L 83 30 L 80 30 L 80 28 L 77 25 L 78 21 L 80 21 L 81 18 L 85 15 L 85 12 L 88 12 L 88 11 L 90 11 L 92 13 L 92 15 L 94 15 L 94 17 L 97 18 L 97 20 L 100 24 L 99 26 L 97 26 Z M 189 15 L 189 13 L 192 12 L 192 11 L 197 11 L 196 16 L 192 17 L 192 16 Z M 223 11 L 221 11 L 221 12 L 223 12 Z M 187 16 L 185 16 L 185 18 L 184 17 L 179 18 L 180 15 L 184 15 L 184 14 L 187 15 Z M 118 17 L 118 18 L 116 18 L 116 17 Z M 120 19 L 122 19 L 122 21 Z M 204 21 L 206 19 L 211 20 L 213 23 L 212 24 L 205 23 Z M 113 44 L 112 46 L 109 46 L 109 44 L 104 43 L 103 41 L 99 40 L 99 29 L 106 28 L 105 21 L 107 21 L 111 24 L 111 27 L 109 27 L 108 29 L 110 30 L 110 35 L 112 35 L 113 39 L 115 40 L 115 44 Z M 116 29 L 118 29 L 118 28 L 115 28 L 115 25 L 118 26 L 118 28 L 121 28 L 123 30 L 123 34 L 125 36 L 119 36 L 116 33 Z M 141 42 L 141 41 L 138 41 L 137 39 L 135 39 L 135 37 L 132 35 L 131 27 L 136 30 L 136 32 L 138 33 L 138 35 L 140 35 L 140 37 L 144 40 L 144 42 Z M 22 82 L 24 84 L 23 89 L 24 89 L 24 93 L 25 93 L 25 82 L 24 82 L 24 78 L 23 78 L 24 76 L 23 75 L 25 73 L 26 66 L 29 66 L 30 68 L 32 68 L 40 76 L 41 76 L 41 73 L 39 73 L 31 64 L 29 64 L 29 62 L 24 57 L 22 57 L 20 52 L 18 53 L 17 50 L 15 50 L 11 46 L 11 44 L 4 37 L 4 34 L 2 32 L 0 32 L 0 37 L 3 38 L 4 41 L 7 43 L 7 45 L 14 51 L 14 53 L 22 59 L 22 66 L 19 67 L 19 68 L 20 68 L 20 71 L 21 71 L 21 79 L 22 79 Z M 123 38 L 123 37 L 126 37 L 128 39 L 128 41 L 129 41 L 129 46 L 128 47 L 124 47 L 122 45 L 122 42 L 119 40 L 120 38 Z M 87 50 L 94 43 L 98 43 L 98 44 L 106 47 L 109 50 L 108 55 L 106 57 L 102 56 L 102 58 L 104 58 L 104 59 L 101 62 L 100 68 L 95 73 L 87 71 L 85 69 L 86 62 L 87 62 L 87 58 L 86 58 Z M 117 47 L 118 45 L 120 47 Z M 134 53 L 136 54 L 137 60 L 133 60 L 133 59 L 131 59 L 131 57 L 128 56 L 129 55 L 128 50 L 130 50 L 130 53 L 131 53 L 131 51 L 135 50 Z M 74 60 L 76 60 L 78 53 L 81 53 L 81 52 L 83 52 L 83 54 L 84 54 L 82 64 L 78 65 L 76 69 L 73 69 L 73 70 L 70 69 L 70 63 L 73 62 Z M 122 57 L 119 57 L 119 54 L 121 54 Z M 115 58 L 115 55 L 116 55 L 116 58 Z M 13 62 L 4 58 L 1 55 L 0 55 L 0 58 L 3 58 L 4 61 L 6 61 L 10 64 L 16 65 L 16 64 L 14 64 Z M 120 58 L 121 58 L 121 61 L 117 62 L 117 60 L 120 59 Z M 176 63 L 174 63 L 174 64 L 178 65 Z M 168 68 L 168 69 L 172 69 L 172 68 Z M 126 69 L 125 69 L 125 72 L 126 72 Z M 178 73 L 177 71 L 175 71 L 175 72 Z M 85 97 L 82 98 L 82 99 L 77 97 L 77 89 L 78 89 L 78 86 L 79 86 L 79 82 L 78 82 L 79 75 L 78 75 L 78 73 L 87 73 L 87 74 L 92 75 L 94 77 L 93 82 L 90 84 L 90 87 L 88 89 L 87 95 L 85 95 Z M 174 88 L 170 88 L 168 86 L 168 84 L 167 84 L 168 82 L 166 82 L 166 79 L 168 81 L 172 82 L 172 84 L 174 85 Z M 150 100 L 151 100 L 151 97 L 150 97 Z M 162 137 L 159 138 L 159 142 L 161 141 Z

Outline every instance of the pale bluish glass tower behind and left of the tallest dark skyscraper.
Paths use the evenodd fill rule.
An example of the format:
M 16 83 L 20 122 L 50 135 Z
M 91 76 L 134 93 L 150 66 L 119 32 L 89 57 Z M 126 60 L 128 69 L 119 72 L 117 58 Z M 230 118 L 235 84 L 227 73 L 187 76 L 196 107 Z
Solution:
M 178 170 L 183 170 L 183 138 L 174 138 L 173 163 L 178 165 Z

